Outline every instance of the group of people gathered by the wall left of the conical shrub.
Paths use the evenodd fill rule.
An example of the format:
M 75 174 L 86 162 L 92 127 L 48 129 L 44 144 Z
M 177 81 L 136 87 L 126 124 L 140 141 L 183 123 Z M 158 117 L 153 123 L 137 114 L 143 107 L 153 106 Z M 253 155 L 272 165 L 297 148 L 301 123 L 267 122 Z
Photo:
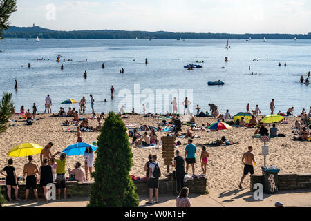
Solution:
M 30 189 L 34 191 L 35 198 L 39 202 L 38 192 L 37 192 L 37 182 L 39 186 L 42 187 L 44 191 L 44 198 L 48 202 L 48 190 L 51 186 L 48 184 L 53 184 L 56 182 L 56 189 L 58 193 L 58 200 L 61 199 L 61 189 L 64 192 L 64 199 L 66 199 L 66 181 L 77 181 L 86 182 L 92 180 L 93 171 L 93 160 L 94 152 L 90 147 L 86 147 L 84 152 L 84 169 L 80 162 L 75 164 L 75 169 L 68 169 L 68 174 L 70 177 L 66 177 L 66 153 L 57 151 L 54 155 L 51 149 L 53 148 L 53 143 L 48 143 L 40 153 L 40 163 L 39 166 L 33 162 L 32 155 L 28 156 L 28 163 L 23 167 L 23 177 L 17 177 L 15 173 L 15 167 L 13 166 L 13 160 L 9 159 L 7 166 L 1 169 L 0 174 L 6 177 L 7 194 L 9 201 L 12 201 L 11 191 L 15 191 L 15 200 L 21 200 L 18 198 L 19 187 L 18 184 L 21 181 L 26 183 L 26 195 L 25 200 L 28 200 L 28 195 Z M 59 159 L 57 159 L 59 155 Z M 6 172 L 6 173 L 4 173 Z M 19 179 L 17 179 L 19 178 Z

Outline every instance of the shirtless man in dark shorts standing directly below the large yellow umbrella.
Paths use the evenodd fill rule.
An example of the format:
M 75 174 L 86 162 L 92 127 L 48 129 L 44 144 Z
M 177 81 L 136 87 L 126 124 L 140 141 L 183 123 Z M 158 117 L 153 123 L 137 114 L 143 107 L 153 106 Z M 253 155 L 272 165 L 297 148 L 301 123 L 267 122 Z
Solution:
M 27 202 L 28 200 L 28 195 L 29 195 L 29 191 L 30 188 L 33 189 L 34 193 L 35 193 L 35 197 L 37 202 L 39 202 L 39 198 L 38 198 L 38 192 L 37 192 L 37 176 L 36 173 L 38 173 L 38 168 L 36 164 L 32 163 L 32 156 L 28 156 L 28 163 L 25 164 L 25 166 L 23 167 L 23 176 L 26 177 L 26 197 L 25 197 L 25 202 Z

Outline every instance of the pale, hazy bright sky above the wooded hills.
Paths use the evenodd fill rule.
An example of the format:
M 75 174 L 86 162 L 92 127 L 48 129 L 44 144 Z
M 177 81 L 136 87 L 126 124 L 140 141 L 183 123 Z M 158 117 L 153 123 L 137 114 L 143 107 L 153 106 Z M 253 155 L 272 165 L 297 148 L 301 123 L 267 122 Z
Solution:
M 50 3 L 55 20 L 46 18 Z M 17 0 L 17 8 L 12 26 L 54 30 L 311 32 L 310 0 Z

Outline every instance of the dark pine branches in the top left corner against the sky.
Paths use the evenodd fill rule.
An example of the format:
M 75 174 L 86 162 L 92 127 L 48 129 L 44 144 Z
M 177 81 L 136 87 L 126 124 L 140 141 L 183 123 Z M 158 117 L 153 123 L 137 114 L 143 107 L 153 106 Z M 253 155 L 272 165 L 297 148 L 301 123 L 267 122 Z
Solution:
M 0 39 L 3 30 L 8 29 L 10 15 L 16 11 L 16 0 L 0 0 Z

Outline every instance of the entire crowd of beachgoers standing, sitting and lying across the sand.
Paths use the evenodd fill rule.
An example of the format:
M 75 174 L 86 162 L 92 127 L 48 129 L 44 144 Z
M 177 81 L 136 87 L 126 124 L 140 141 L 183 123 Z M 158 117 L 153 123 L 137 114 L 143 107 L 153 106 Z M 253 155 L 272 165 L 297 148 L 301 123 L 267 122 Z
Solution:
M 146 59 L 147 61 L 147 59 Z M 104 67 L 104 64 L 103 64 Z M 16 81 L 16 88 L 17 81 Z M 113 97 L 115 93 L 115 88 L 111 86 L 110 89 L 111 97 Z M 85 115 L 86 113 L 86 97 L 82 97 L 82 99 L 79 102 L 79 109 L 76 110 L 75 108 L 68 108 L 68 111 L 66 112 L 64 108 L 59 108 L 59 112 L 57 114 L 53 114 L 51 117 L 73 117 L 71 120 L 66 119 L 66 121 L 62 124 L 63 126 L 71 126 L 75 125 L 77 127 L 77 143 L 80 143 L 83 141 L 82 138 L 82 132 L 86 131 L 93 131 L 93 132 L 99 132 L 100 129 L 103 126 L 103 122 L 105 119 L 104 113 L 101 113 L 99 116 L 96 115 L 94 106 L 95 106 L 95 98 L 93 95 L 90 95 L 91 98 L 91 109 L 93 113 L 92 119 L 97 119 L 98 126 L 96 128 L 93 128 L 92 126 L 89 126 L 88 124 L 88 118 L 84 117 L 81 118 L 80 115 Z M 274 103 L 274 99 L 270 102 L 270 111 L 271 115 L 274 115 L 276 105 Z M 44 113 L 52 114 L 52 99 L 50 98 L 50 95 L 47 95 L 45 99 L 45 111 Z M 189 172 L 189 166 L 191 166 L 192 176 L 191 178 L 198 178 L 198 177 L 205 177 L 207 175 L 207 163 L 209 161 L 209 153 L 207 152 L 207 147 L 202 146 L 202 151 L 200 153 L 200 166 L 202 169 L 201 175 L 196 175 L 195 173 L 195 164 L 196 164 L 196 155 L 197 155 L 197 147 L 193 144 L 193 139 L 198 137 L 196 133 L 192 131 L 201 130 L 201 131 L 207 131 L 207 128 L 210 126 L 210 124 L 207 122 L 206 125 L 197 126 L 196 125 L 196 117 L 199 117 L 201 114 L 204 115 L 204 117 L 209 116 L 208 112 L 203 113 L 201 111 L 201 108 L 199 105 L 196 106 L 196 117 L 191 113 L 189 110 L 189 106 L 192 104 L 191 101 L 186 97 L 184 102 L 182 103 L 184 106 L 184 115 L 189 115 L 189 122 L 187 123 L 187 126 L 189 128 L 187 129 L 186 133 L 182 133 L 180 135 L 180 131 L 182 131 L 182 122 L 181 122 L 181 116 L 178 114 L 178 103 L 176 97 L 174 97 L 173 101 L 171 102 L 171 105 L 173 107 L 173 114 L 167 114 L 164 115 L 166 117 L 169 117 L 170 122 L 166 122 L 164 120 L 162 124 L 159 124 L 158 126 L 147 126 L 142 125 L 139 130 L 133 129 L 133 131 L 128 130 L 129 137 L 132 138 L 132 144 L 135 146 L 151 146 L 151 145 L 157 145 L 161 144 L 160 139 L 157 135 L 158 131 L 161 132 L 162 127 L 161 126 L 171 126 L 172 130 L 169 130 L 169 133 L 171 136 L 175 138 L 183 137 L 185 139 L 188 139 L 187 146 L 185 146 L 185 157 L 183 158 L 180 156 L 180 151 L 176 150 L 174 158 L 174 168 L 175 171 L 175 179 L 176 179 L 176 191 L 178 194 L 178 200 L 177 205 L 178 206 L 189 206 L 189 199 L 187 200 L 187 195 L 189 194 L 189 189 L 185 188 L 184 181 L 185 177 L 190 177 L 188 175 Z M 263 119 L 263 116 L 261 115 L 261 109 L 259 108 L 258 104 L 256 104 L 256 107 L 254 110 L 250 109 L 250 104 L 248 103 L 246 106 L 246 112 L 249 114 L 252 118 L 249 119 L 249 122 L 247 123 L 245 120 L 245 117 L 241 117 L 236 122 L 232 121 L 232 115 L 229 113 L 229 110 L 226 110 L 224 114 L 221 114 L 218 110 L 218 106 L 216 104 L 208 104 L 209 105 L 209 111 L 211 111 L 211 117 L 214 117 L 214 119 L 218 119 L 218 122 L 225 122 L 227 124 L 230 124 L 232 126 L 239 126 L 239 127 L 252 127 L 255 129 L 254 134 L 255 135 L 269 135 L 268 130 L 266 128 L 266 124 L 261 122 Z M 124 108 L 124 107 L 122 107 Z M 151 113 L 145 113 L 146 109 L 144 106 L 144 117 L 156 117 L 156 115 Z M 288 108 L 288 111 L 286 113 L 281 113 L 281 111 L 278 111 L 277 115 L 281 115 L 283 117 L 294 117 L 294 107 Z M 35 119 L 37 115 L 37 106 L 34 103 L 32 106 L 32 113 L 28 109 L 25 111 L 24 106 L 21 106 L 20 109 L 20 115 L 23 115 L 27 122 L 31 122 Z M 124 109 L 120 110 L 121 115 L 125 115 Z M 132 111 L 132 114 L 135 114 L 134 108 Z M 125 117 L 125 116 L 124 116 Z M 301 141 L 308 141 L 311 138 L 310 133 L 310 117 L 311 117 L 311 107 L 309 112 L 307 113 L 305 111 L 305 108 L 301 111 L 301 114 L 299 115 L 301 120 L 296 120 L 295 122 L 295 130 L 294 130 L 294 137 L 292 140 L 301 140 Z M 287 120 L 284 118 L 280 123 L 286 123 Z M 185 123 L 184 123 L 185 124 Z M 29 124 L 31 125 L 31 124 Z M 143 134 L 140 135 L 139 131 L 143 131 Z M 211 130 L 213 131 L 213 130 Z M 215 131 L 215 130 L 214 130 Z M 278 128 L 276 128 L 276 124 L 272 125 L 272 128 L 270 128 L 270 136 L 271 137 L 283 137 L 282 133 L 279 133 Z M 239 144 L 238 142 L 229 142 L 225 136 L 221 137 L 221 139 L 216 140 L 216 142 L 213 142 L 212 145 L 234 145 Z M 178 145 L 178 142 L 176 142 L 176 145 Z M 179 142 L 179 145 L 181 143 Z M 70 174 L 70 177 L 66 177 L 66 153 L 57 152 L 55 155 L 52 155 L 50 149 L 52 148 L 53 143 L 49 143 L 44 147 L 44 150 L 42 151 L 40 155 L 41 160 L 41 166 L 39 169 L 37 168 L 37 165 L 32 162 L 33 158 L 32 156 L 28 156 L 28 164 L 25 164 L 24 170 L 23 170 L 23 180 L 26 181 L 26 196 L 25 199 L 28 200 L 29 190 L 33 189 L 35 191 L 35 197 L 38 200 L 37 195 L 37 177 L 39 178 L 40 186 L 44 189 L 44 193 L 47 193 L 48 188 L 47 184 L 53 183 L 56 181 L 57 183 L 57 191 L 60 199 L 61 195 L 61 189 L 64 190 L 64 198 L 66 198 L 66 181 L 67 180 L 77 180 L 78 182 L 86 182 L 88 180 L 88 172 L 90 174 L 90 180 L 92 180 L 91 173 L 92 173 L 92 167 L 93 167 L 93 158 L 94 153 L 91 150 L 91 148 L 86 148 L 86 151 L 84 153 L 84 157 L 86 159 L 85 161 L 85 170 L 82 169 L 82 165 L 77 162 L 75 164 L 75 169 L 68 170 L 68 174 Z M 254 165 L 256 165 L 256 161 L 254 160 L 254 155 L 252 154 L 252 146 L 248 147 L 248 151 L 243 154 L 242 162 L 245 165 L 244 171 L 243 171 L 243 177 L 241 177 L 241 181 L 238 183 L 238 188 L 242 188 L 242 183 L 245 178 L 245 176 L 250 173 L 251 175 L 254 174 Z M 56 155 L 59 155 L 59 159 L 56 159 Z M 153 200 L 153 189 L 156 189 L 156 203 L 158 201 L 158 188 L 159 188 L 159 177 L 156 177 L 155 171 L 158 171 L 158 168 L 160 169 L 160 164 L 157 162 L 157 156 L 149 156 L 149 161 L 144 166 L 144 171 L 146 171 L 146 177 L 147 177 L 147 184 L 149 187 L 149 201 L 148 204 L 152 204 Z M 4 173 L 6 172 L 6 174 Z M 18 180 L 17 175 L 15 173 L 15 168 L 13 166 L 13 160 L 8 160 L 8 165 L 3 168 L 0 171 L 1 175 L 6 176 L 6 185 L 8 187 L 8 198 L 9 200 L 12 200 L 11 197 L 11 190 L 15 190 L 15 198 L 16 200 L 19 200 L 18 196 Z M 46 195 L 45 195 L 46 196 Z M 47 198 L 46 198 L 47 201 Z

